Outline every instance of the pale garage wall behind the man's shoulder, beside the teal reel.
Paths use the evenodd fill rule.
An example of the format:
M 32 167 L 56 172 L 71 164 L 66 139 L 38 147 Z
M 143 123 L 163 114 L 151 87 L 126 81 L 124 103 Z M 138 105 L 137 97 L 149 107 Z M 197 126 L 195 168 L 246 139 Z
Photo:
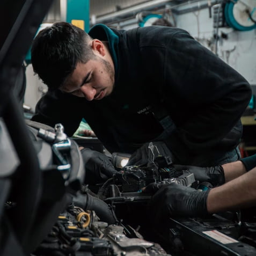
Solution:
M 177 27 L 187 30 L 204 46 L 215 52 L 215 43 L 213 42 L 209 46 L 209 42 L 214 40 L 215 29 L 213 28 L 213 19 L 209 18 L 208 9 L 179 15 Z M 218 35 L 221 33 L 228 38 L 218 42 L 218 56 L 240 72 L 248 82 L 256 84 L 256 30 L 235 31 L 232 28 L 223 27 L 218 29 Z

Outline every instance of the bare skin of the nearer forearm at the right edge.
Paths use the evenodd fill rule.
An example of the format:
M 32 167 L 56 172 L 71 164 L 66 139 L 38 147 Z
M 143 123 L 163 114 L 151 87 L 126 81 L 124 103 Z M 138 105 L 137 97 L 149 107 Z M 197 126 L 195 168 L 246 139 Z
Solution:
M 207 198 L 208 212 L 218 213 L 223 210 L 254 206 L 256 204 L 255 181 L 256 167 L 220 187 L 211 189 Z

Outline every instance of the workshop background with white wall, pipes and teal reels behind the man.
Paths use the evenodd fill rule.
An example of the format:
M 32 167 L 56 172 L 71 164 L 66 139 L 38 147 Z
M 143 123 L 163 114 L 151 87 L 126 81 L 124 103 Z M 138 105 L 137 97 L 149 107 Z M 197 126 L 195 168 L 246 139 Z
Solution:
M 55 0 L 41 28 L 56 21 L 68 21 L 86 32 L 98 23 L 128 30 L 151 25 L 159 18 L 187 30 L 252 85 L 253 97 L 242 117 L 244 135 L 240 151 L 242 156 L 254 153 L 256 0 Z M 47 86 L 34 75 L 29 53 L 26 60 L 24 105 L 33 112 Z

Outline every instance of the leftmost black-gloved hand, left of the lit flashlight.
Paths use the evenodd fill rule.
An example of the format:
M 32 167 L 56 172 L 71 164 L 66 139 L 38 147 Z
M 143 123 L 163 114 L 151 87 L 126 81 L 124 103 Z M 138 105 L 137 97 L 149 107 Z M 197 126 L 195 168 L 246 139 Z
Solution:
M 112 178 L 117 171 L 106 155 L 88 148 L 81 150 L 85 164 L 85 184 L 95 185 Z

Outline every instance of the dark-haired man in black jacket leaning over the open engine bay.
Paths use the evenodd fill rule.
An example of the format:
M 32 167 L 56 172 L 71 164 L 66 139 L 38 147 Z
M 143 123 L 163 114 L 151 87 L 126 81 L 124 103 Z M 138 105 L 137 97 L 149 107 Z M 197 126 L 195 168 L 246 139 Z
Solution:
M 177 164 L 238 159 L 250 85 L 186 31 L 99 24 L 88 35 L 55 23 L 36 36 L 31 53 L 49 87 L 34 121 L 61 122 L 71 136 L 84 118 L 109 152 L 135 157 L 147 156 L 144 143 L 160 141 Z

